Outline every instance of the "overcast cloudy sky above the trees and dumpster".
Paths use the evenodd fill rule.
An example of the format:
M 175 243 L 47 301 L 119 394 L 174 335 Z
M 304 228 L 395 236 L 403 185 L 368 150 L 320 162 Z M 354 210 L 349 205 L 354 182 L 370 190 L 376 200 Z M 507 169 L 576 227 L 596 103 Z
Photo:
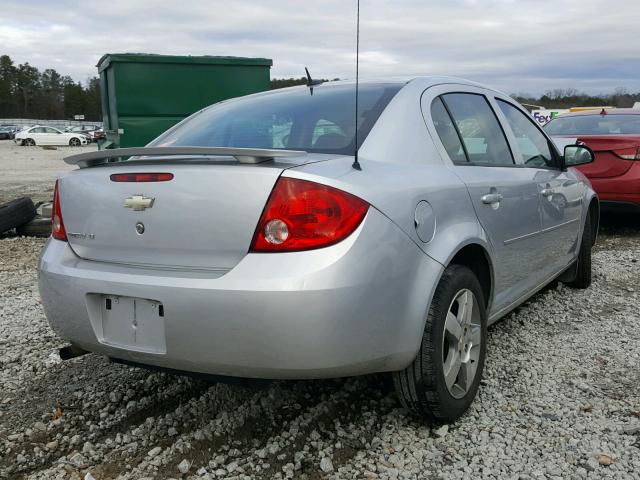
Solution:
M 445 74 L 507 93 L 640 91 L 638 0 L 361 0 L 363 77 Z M 273 59 L 355 76 L 355 0 L 0 0 L 0 54 L 84 81 L 104 53 Z

